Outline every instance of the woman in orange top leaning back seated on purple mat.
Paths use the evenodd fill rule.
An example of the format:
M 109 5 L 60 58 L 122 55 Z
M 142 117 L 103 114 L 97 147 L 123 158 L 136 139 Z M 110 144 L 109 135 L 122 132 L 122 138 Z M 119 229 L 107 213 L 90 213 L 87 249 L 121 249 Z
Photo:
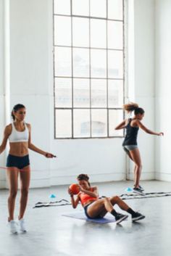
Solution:
M 118 205 L 122 210 L 130 213 L 132 220 L 142 220 L 145 218 L 140 212 L 134 212 L 125 202 L 123 202 L 120 197 L 104 197 L 99 198 L 99 192 L 96 186 L 91 186 L 89 183 L 89 177 L 87 174 L 80 174 L 78 176 L 78 184 L 80 187 L 80 192 L 74 198 L 72 191 L 68 189 L 68 193 L 71 197 L 72 207 L 76 208 L 78 203 L 81 202 L 85 210 L 87 218 L 103 218 L 107 212 L 114 215 L 116 223 L 120 223 L 122 220 L 128 218 L 128 215 L 123 215 L 119 212 L 116 212 L 113 208 L 114 205 Z

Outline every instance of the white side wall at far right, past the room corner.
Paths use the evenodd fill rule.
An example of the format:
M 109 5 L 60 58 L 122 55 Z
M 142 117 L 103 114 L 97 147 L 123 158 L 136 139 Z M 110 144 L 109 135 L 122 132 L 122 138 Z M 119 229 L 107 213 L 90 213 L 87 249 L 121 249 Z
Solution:
M 156 0 L 156 127 L 164 131 L 164 137 L 157 138 L 156 149 L 156 178 L 171 181 L 170 161 L 170 95 L 171 95 L 171 1 Z

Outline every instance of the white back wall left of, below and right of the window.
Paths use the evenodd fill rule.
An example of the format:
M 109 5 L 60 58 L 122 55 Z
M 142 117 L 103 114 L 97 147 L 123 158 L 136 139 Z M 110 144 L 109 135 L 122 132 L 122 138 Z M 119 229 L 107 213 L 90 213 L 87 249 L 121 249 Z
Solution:
M 135 3 L 133 97 L 146 109 L 144 122 L 154 128 L 154 1 L 136 0 Z M 12 0 L 9 10 L 10 107 L 25 104 L 33 144 L 58 157 L 48 160 L 30 152 L 31 187 L 74 182 L 75 176 L 82 172 L 88 173 L 92 181 L 125 179 L 122 139 L 54 140 L 52 0 Z M 133 86 L 129 84 L 130 77 L 131 74 L 128 85 Z M 142 178 L 154 178 L 154 141 L 143 133 L 139 142 L 144 162 Z M 129 176 L 132 178 L 132 172 Z

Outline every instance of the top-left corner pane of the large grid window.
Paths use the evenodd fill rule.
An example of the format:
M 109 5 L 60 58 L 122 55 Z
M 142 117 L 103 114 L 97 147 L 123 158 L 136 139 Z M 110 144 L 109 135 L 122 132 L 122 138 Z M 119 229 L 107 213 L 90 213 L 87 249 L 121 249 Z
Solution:
M 70 0 L 54 0 L 54 14 L 70 15 Z

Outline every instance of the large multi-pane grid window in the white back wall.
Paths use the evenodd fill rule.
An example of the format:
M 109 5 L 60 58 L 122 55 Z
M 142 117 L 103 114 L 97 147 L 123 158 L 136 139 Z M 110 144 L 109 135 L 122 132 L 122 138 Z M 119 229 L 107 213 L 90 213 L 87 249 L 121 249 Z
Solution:
M 122 0 L 54 0 L 55 138 L 123 136 Z

